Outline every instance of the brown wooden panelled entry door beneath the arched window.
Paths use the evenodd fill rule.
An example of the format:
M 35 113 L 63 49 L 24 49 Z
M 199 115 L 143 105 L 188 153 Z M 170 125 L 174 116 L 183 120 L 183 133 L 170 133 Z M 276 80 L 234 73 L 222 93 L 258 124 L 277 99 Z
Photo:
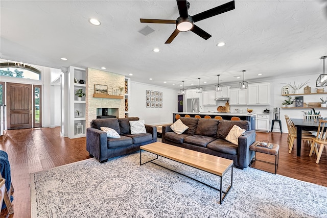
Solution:
M 7 129 L 32 128 L 32 85 L 7 83 Z

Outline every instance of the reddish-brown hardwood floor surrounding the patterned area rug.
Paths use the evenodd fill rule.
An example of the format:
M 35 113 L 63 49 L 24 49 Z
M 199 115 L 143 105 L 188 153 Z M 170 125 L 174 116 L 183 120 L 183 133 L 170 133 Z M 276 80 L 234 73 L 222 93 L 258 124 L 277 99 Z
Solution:
M 296 156 L 296 146 L 291 154 L 288 153 L 286 133 L 257 132 L 256 140 L 269 140 L 280 145 L 277 174 L 327 186 L 327 149 L 324 149 L 319 164 L 316 164 L 316 156 L 309 157 L 310 147 L 307 145 L 302 145 L 301 157 Z M 9 216 L 5 209 L 1 217 L 30 217 L 30 173 L 89 158 L 86 138 L 60 137 L 60 128 L 8 130 L 6 140 L 0 141 L 0 149 L 8 153 L 15 188 L 14 214 Z M 261 154 L 257 156 L 271 159 Z M 269 170 L 273 167 L 260 162 L 255 165 Z

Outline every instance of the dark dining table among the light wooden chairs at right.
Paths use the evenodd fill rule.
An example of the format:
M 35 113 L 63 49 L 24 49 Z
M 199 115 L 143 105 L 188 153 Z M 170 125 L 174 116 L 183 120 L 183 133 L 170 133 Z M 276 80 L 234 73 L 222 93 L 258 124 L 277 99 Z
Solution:
M 319 122 L 317 121 L 317 119 L 291 118 L 291 120 L 294 123 L 294 126 L 296 127 L 296 155 L 300 157 L 302 130 L 317 131 Z

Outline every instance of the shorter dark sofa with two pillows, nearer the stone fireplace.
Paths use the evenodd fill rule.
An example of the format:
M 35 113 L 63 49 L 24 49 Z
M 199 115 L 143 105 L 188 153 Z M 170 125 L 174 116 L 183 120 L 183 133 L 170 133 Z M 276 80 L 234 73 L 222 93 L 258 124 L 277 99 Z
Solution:
M 86 129 L 86 150 L 90 156 L 96 157 L 101 163 L 108 158 L 129 154 L 139 150 L 140 146 L 157 141 L 157 127 L 145 125 L 147 133 L 131 134 L 129 121 L 139 120 L 138 117 L 94 119 L 91 127 Z M 100 127 L 114 129 L 120 138 L 108 138 Z

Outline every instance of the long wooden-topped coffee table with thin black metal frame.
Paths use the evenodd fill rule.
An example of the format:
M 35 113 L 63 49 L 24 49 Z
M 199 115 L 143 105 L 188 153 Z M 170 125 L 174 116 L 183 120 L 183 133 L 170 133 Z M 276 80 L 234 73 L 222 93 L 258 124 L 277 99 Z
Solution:
M 186 176 L 184 174 L 181 174 L 179 172 L 173 171 L 172 169 L 169 169 L 170 171 L 173 171 L 175 173 L 181 174 L 185 177 L 191 178 L 197 182 L 200 182 L 206 186 L 209 186 L 215 190 L 218 190 L 220 192 L 220 204 L 224 201 L 225 197 L 227 196 L 228 191 L 232 187 L 233 183 L 233 161 L 228 160 L 225 158 L 217 157 L 214 155 L 205 154 L 202 152 L 193 151 L 190 149 L 184 149 L 177 146 L 172 146 L 170 144 L 161 143 L 161 142 L 154 142 L 151 144 L 146 144 L 145 146 L 141 146 L 140 152 L 139 152 L 139 165 L 143 165 L 145 163 L 151 162 L 156 165 L 159 165 L 155 162 L 152 162 L 153 160 L 158 159 L 158 156 L 165 157 L 174 161 L 177 161 L 179 163 L 183 163 L 188 166 L 195 167 L 197 169 L 201 169 L 202 171 L 217 175 L 220 177 L 220 189 L 213 187 L 211 185 L 205 184 L 199 180 L 196 180 L 194 178 L 191 178 L 189 176 Z M 149 160 L 145 163 L 142 163 L 142 150 L 156 154 L 157 157 L 155 159 Z M 161 167 L 165 167 L 162 165 L 159 165 Z M 167 167 L 165 167 L 167 168 Z M 230 185 L 228 186 L 226 191 L 222 191 L 222 178 L 224 174 L 228 171 L 228 169 L 231 168 L 231 180 Z M 222 193 L 224 193 L 224 196 L 222 196 Z

